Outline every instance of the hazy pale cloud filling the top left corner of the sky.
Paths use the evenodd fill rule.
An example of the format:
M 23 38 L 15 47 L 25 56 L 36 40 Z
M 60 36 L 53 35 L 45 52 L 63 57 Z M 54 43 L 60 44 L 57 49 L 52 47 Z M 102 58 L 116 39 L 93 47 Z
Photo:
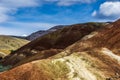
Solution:
M 0 23 L 10 20 L 18 8 L 38 6 L 37 0 L 0 0 Z

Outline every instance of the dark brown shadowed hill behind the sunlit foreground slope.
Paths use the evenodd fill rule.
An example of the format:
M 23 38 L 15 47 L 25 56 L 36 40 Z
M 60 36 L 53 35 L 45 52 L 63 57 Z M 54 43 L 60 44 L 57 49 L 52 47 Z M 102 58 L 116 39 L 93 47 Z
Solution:
M 53 49 L 60 52 L 91 32 L 103 28 L 104 25 L 104 23 L 84 23 L 64 27 L 63 29 L 51 32 L 36 40 L 33 40 L 29 44 L 5 57 L 1 63 L 4 65 L 16 65 L 37 59 L 48 58 L 55 54 L 50 53 L 50 56 L 46 56 L 46 50 L 48 52 Z

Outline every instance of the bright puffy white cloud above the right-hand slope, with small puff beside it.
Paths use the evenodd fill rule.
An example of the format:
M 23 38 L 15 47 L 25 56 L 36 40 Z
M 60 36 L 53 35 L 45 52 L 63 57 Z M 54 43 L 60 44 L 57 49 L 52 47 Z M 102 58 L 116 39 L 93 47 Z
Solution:
M 109 18 L 109 19 L 117 19 L 120 17 L 120 1 L 109 1 L 104 2 L 100 5 L 98 11 L 94 11 L 92 16 Z

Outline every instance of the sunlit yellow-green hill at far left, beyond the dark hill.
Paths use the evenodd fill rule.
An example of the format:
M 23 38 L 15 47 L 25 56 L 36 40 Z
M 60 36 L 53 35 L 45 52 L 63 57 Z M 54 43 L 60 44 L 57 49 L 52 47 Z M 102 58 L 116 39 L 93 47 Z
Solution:
M 22 47 L 28 42 L 25 39 L 0 35 L 0 57 L 7 56 L 10 52 Z

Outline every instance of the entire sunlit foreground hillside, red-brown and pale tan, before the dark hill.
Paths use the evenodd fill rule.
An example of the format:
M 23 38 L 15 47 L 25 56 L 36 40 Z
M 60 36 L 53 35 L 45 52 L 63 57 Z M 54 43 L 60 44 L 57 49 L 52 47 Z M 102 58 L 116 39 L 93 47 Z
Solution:
M 120 20 L 94 33 L 47 59 L 2 72 L 0 79 L 120 80 Z

